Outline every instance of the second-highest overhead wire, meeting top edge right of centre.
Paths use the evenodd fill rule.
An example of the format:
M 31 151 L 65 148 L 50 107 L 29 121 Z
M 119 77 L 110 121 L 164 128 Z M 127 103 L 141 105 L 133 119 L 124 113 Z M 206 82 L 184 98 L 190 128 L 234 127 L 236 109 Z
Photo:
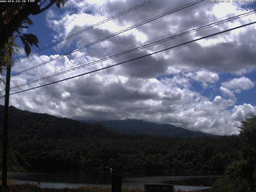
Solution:
M 103 41 L 103 40 L 106 40 L 106 39 L 108 39 L 108 38 L 110 38 L 110 37 L 116 36 L 116 35 L 118 35 L 118 34 L 121 34 L 121 33 L 126 32 L 126 31 L 128 31 L 128 30 L 131 30 L 131 29 L 133 29 L 133 28 L 136 28 L 136 27 L 141 26 L 141 25 L 143 25 L 143 24 L 146 24 L 146 23 L 148 23 L 148 22 L 154 21 L 154 20 L 156 20 L 156 19 L 158 19 L 158 18 L 161 18 L 161 17 L 163 17 L 163 16 L 166 16 L 166 15 L 168 15 L 168 14 L 177 12 L 177 11 L 179 11 L 179 10 L 182 10 L 182 9 L 184 9 L 184 8 L 187 8 L 187 7 L 189 7 L 189 6 L 192 6 L 192 5 L 194 5 L 194 4 L 198 4 L 198 3 L 202 2 L 202 1 L 204 1 L 204 0 L 196 0 L 196 1 L 194 1 L 194 2 L 191 2 L 191 3 L 186 4 L 186 5 L 184 5 L 184 6 L 180 6 L 180 7 L 176 8 L 176 9 L 174 9 L 174 10 L 171 10 L 171 11 L 169 11 L 169 12 L 166 12 L 166 13 L 163 13 L 163 14 L 161 14 L 161 15 L 155 16 L 155 17 L 150 18 L 150 19 L 148 19 L 148 20 L 146 20 L 146 21 L 140 22 L 140 23 L 135 24 L 135 25 L 133 25 L 133 26 L 130 26 L 130 27 L 126 28 L 126 29 L 123 29 L 123 30 L 121 30 L 121 31 L 119 31 L 119 32 L 115 32 L 115 33 L 110 34 L 110 35 L 108 35 L 108 36 L 106 36 L 106 37 L 104 37 L 104 38 L 98 39 L 98 40 L 96 40 L 96 41 L 94 41 L 94 42 L 91 42 L 91 43 L 89 43 L 89 44 L 86 44 L 86 45 L 84 45 L 84 46 L 81 46 L 81 47 L 79 47 L 79 48 L 77 48 L 77 49 L 75 49 L 75 50 L 72 50 L 72 51 L 70 51 L 70 52 L 67 52 L 67 53 L 65 53 L 65 54 L 63 54 L 63 55 L 61 55 L 61 56 L 57 56 L 57 57 L 55 57 L 55 58 L 53 58 L 53 59 L 50 59 L 50 60 L 45 61 L 45 62 L 42 62 L 42 63 L 40 63 L 40 64 L 38 64 L 38 65 L 36 65 L 36 66 L 27 68 L 27 69 L 25 69 L 25 70 L 23 70 L 23 71 L 20 71 L 20 72 L 18 72 L 18 73 L 16 73 L 16 74 L 12 75 L 11 77 L 16 76 L 16 75 L 18 75 L 18 74 L 21 74 L 21 73 L 23 73 L 23 72 L 26 72 L 26 71 L 28 71 L 28 70 L 37 68 L 37 67 L 42 66 L 42 65 L 44 65 L 44 64 L 47 64 L 47 63 L 49 63 L 49 62 L 51 62 L 51 61 L 53 61 L 53 60 L 56 60 L 56 59 L 58 59 L 58 58 L 61 58 L 61 57 L 63 57 L 63 56 L 66 56 L 66 55 L 68 55 L 68 54 L 74 53 L 74 52 L 76 52 L 76 51 L 78 51 L 78 50 L 84 49 L 84 48 L 86 48 L 86 47 L 88 47 L 88 46 L 91 46 L 91 45 L 93 45 L 93 44 L 96 44 L 96 43 L 98 43 L 98 42 L 101 42 L 101 41 Z

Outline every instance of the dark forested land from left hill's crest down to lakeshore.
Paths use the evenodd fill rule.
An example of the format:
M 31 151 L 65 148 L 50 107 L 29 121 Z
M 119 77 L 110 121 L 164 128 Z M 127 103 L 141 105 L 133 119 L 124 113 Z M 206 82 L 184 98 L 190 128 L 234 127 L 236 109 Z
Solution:
M 0 110 L 0 126 L 2 111 Z M 2 129 L 1 129 L 2 130 Z M 2 137 L 2 136 L 1 136 Z M 2 142 L 1 142 L 2 144 Z M 201 138 L 120 134 L 101 124 L 10 107 L 10 171 L 79 168 L 222 174 L 238 159 L 238 136 Z

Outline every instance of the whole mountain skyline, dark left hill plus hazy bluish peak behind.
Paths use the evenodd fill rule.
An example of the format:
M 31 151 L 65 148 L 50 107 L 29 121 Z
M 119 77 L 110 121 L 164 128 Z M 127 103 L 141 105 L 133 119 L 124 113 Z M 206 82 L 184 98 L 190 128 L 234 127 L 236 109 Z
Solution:
M 0 105 L 0 127 L 3 126 L 4 106 Z M 8 138 L 11 140 L 45 140 L 60 138 L 117 138 L 128 135 L 148 135 L 196 138 L 214 136 L 200 131 L 194 132 L 172 124 L 156 124 L 143 120 L 78 121 L 49 114 L 9 107 Z M 2 129 L 0 130 L 2 135 Z

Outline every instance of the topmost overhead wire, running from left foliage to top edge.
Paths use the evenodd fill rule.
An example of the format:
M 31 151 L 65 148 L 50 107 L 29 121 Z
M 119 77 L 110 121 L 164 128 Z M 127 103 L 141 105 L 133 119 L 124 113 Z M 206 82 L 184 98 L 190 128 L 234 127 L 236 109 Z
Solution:
M 41 49 L 35 51 L 35 52 L 32 52 L 32 53 L 30 54 L 30 56 L 31 56 L 31 55 L 34 55 L 34 54 L 36 54 L 36 53 L 38 53 L 38 52 L 40 52 L 40 51 L 42 51 L 42 50 L 46 50 L 46 49 L 48 49 L 48 48 L 50 48 L 50 47 L 52 47 L 52 46 L 54 46 L 54 45 L 56 45 L 56 44 L 58 44 L 58 43 L 60 43 L 60 42 L 63 42 L 63 41 L 65 41 L 65 40 L 68 40 L 68 39 L 70 39 L 70 38 L 72 38 L 72 37 L 74 37 L 74 36 L 76 36 L 76 35 L 78 35 L 78 34 L 81 34 L 82 32 L 85 32 L 85 31 L 87 31 L 87 30 L 90 30 L 90 29 L 92 29 L 92 28 L 94 28 L 94 27 L 96 27 L 96 26 L 99 26 L 99 25 L 101 25 L 101 24 L 103 24 L 103 23 L 106 23 L 106 22 L 108 22 L 108 21 L 110 21 L 110 20 L 112 20 L 112 19 L 115 19 L 115 18 L 117 18 L 117 17 L 119 17 L 119 16 L 122 16 L 122 15 L 128 13 L 128 12 L 131 12 L 132 10 L 135 10 L 135 9 L 137 9 L 137 8 L 140 8 L 140 7 L 144 6 L 144 5 L 147 5 L 147 4 L 149 4 L 149 3 L 152 3 L 152 2 L 154 2 L 154 1 L 156 1 L 156 0 L 148 0 L 148 1 L 145 1 L 145 2 L 143 2 L 142 4 L 136 5 L 136 6 L 130 8 L 130 9 L 128 9 L 128 10 L 125 10 L 125 11 L 123 11 L 123 12 L 121 12 L 121 13 L 118 13 L 118 14 L 116 14 L 116 15 L 110 17 L 110 18 L 107 18 L 107 19 L 101 21 L 101 22 L 98 22 L 98 23 L 96 23 L 96 24 L 93 24 L 92 26 L 89 26 L 89 27 L 87 27 L 87 28 L 84 28 L 84 29 L 82 29 L 82 30 L 80 30 L 80 31 L 78 31 L 78 32 L 76 32 L 76 33 L 74 33 L 74 34 L 71 34 L 70 36 L 67 36 L 67 37 L 65 37 L 65 38 L 63 38 L 63 39 L 61 39 L 61 40 L 58 40 L 57 42 L 54 42 L 54 43 L 52 43 L 52 44 L 50 44 L 50 45 L 48 45 L 48 46 L 45 46 L 45 47 L 43 47 L 43 48 L 41 48 Z M 22 60 L 22 59 L 24 59 L 24 58 L 28 58 L 28 56 L 24 56 L 24 57 L 22 57 L 22 58 L 19 58 L 19 59 L 17 60 L 17 62 L 19 62 L 20 60 Z

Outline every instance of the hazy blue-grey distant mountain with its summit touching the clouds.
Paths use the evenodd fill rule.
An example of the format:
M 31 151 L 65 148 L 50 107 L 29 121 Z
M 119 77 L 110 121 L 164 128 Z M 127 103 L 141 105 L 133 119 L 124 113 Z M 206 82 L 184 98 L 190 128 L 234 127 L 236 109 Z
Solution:
M 131 135 L 151 135 L 151 136 L 167 136 L 167 137 L 203 137 L 215 136 L 200 131 L 190 131 L 172 124 L 156 124 L 145 122 L 142 120 L 126 119 L 126 120 L 109 120 L 109 121 L 84 121 L 87 123 L 100 123 L 112 130 Z

